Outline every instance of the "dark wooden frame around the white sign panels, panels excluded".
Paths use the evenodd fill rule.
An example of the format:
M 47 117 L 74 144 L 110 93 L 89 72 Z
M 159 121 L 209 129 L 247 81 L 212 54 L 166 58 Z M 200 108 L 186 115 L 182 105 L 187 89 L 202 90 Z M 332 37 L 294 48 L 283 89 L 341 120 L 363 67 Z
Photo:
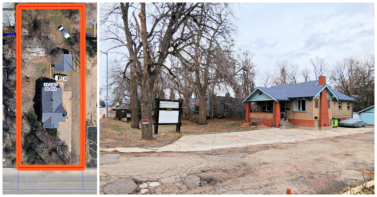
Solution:
M 179 107 L 178 108 L 165 108 L 165 107 L 160 107 L 160 101 L 169 101 L 169 102 L 179 102 Z M 156 98 L 155 99 L 155 121 L 153 124 L 155 125 L 155 130 L 154 134 L 158 134 L 158 125 L 176 125 L 175 132 L 176 133 L 181 133 L 181 125 L 182 125 L 182 103 L 183 99 L 178 99 L 178 100 L 172 100 L 172 99 L 160 99 Z M 160 110 L 166 110 L 166 111 L 179 111 L 178 112 L 178 122 L 177 123 L 158 123 L 159 119 L 159 111 Z

